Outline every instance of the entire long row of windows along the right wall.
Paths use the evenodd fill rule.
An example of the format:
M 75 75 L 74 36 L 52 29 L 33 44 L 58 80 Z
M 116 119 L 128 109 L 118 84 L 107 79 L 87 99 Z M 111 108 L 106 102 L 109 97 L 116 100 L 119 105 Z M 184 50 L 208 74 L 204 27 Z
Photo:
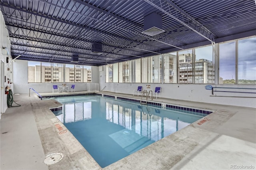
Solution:
M 219 84 L 256 84 L 255 36 L 220 43 L 213 51 L 208 45 L 106 65 L 106 82 L 214 84 L 218 65 Z

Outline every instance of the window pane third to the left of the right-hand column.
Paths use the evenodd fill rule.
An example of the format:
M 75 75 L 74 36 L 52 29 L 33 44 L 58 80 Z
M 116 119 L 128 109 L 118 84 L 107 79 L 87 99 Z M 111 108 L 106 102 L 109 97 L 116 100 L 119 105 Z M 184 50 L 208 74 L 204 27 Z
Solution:
M 164 83 L 177 83 L 176 58 L 176 52 L 164 54 Z

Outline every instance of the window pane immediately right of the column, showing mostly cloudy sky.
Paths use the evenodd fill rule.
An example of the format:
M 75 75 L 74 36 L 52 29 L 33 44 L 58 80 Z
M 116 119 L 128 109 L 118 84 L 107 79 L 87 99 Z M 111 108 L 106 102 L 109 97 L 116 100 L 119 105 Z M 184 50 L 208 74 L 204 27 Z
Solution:
M 236 83 L 236 42 L 222 43 L 219 46 L 220 53 L 220 84 Z

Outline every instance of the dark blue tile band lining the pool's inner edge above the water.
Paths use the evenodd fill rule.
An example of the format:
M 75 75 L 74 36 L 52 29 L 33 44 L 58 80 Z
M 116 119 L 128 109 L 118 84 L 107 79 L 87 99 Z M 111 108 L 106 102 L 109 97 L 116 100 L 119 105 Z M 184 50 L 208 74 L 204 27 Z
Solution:
M 45 98 L 52 98 L 52 97 L 94 96 L 94 95 L 95 96 L 106 97 L 106 98 L 110 98 L 110 99 L 116 99 L 116 100 L 120 100 L 120 101 L 126 101 L 126 102 L 130 102 L 130 103 L 136 103 L 136 104 L 140 104 L 140 102 L 146 103 L 146 101 L 144 101 L 144 100 L 131 99 L 131 98 L 126 98 L 126 97 L 116 97 L 116 96 L 112 96 L 112 95 L 104 95 L 104 94 L 98 94 L 98 93 L 82 93 L 82 94 L 69 94 L 69 95 L 49 95 L 49 96 L 42 96 L 42 97 L 43 97 L 43 99 L 45 99 Z M 170 105 L 170 104 L 162 105 L 162 103 L 150 102 L 150 101 L 147 101 L 147 105 L 152 106 L 152 107 L 157 107 L 157 108 L 168 109 L 168 110 L 172 110 L 172 111 L 180 111 L 180 112 L 183 112 L 183 113 L 189 113 L 189 114 L 193 114 L 193 115 L 200 115 L 200 116 L 209 115 L 213 112 L 213 111 L 210 111 L 210 110 L 195 109 L 195 108 L 178 106 L 178 105 Z M 62 107 L 61 107 L 61 109 L 62 109 Z M 58 107 L 58 108 L 51 108 L 50 110 L 51 111 L 58 111 L 58 110 L 61 110 L 61 109 L 60 109 L 60 107 Z

